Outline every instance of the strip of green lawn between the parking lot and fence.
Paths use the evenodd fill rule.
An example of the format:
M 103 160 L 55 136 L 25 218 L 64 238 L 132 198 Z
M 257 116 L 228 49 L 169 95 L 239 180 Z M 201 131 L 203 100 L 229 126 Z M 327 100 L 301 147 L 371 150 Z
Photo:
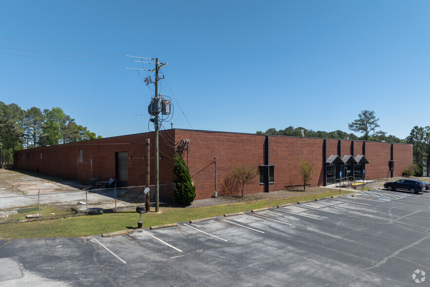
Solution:
M 294 203 L 297 201 L 314 200 L 316 198 L 348 194 L 351 192 L 342 190 L 339 193 L 339 190 L 328 190 L 280 199 L 247 201 L 208 207 L 162 207 L 159 213 L 149 212 L 142 214 L 142 222 L 143 227 L 186 222 L 193 219 L 220 216 L 226 213 L 239 211 L 249 211 L 251 209 Z M 0 239 L 89 236 L 136 228 L 138 219 L 139 215 L 136 212 L 123 211 L 55 220 L 35 220 L 24 223 L 2 224 L 0 225 Z

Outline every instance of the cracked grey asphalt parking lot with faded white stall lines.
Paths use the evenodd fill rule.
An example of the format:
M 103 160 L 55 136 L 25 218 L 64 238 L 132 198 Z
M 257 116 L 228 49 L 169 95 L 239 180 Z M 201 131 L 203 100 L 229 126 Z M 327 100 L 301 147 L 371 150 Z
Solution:
M 0 286 L 428 286 L 430 193 L 360 193 L 112 237 L 2 240 Z

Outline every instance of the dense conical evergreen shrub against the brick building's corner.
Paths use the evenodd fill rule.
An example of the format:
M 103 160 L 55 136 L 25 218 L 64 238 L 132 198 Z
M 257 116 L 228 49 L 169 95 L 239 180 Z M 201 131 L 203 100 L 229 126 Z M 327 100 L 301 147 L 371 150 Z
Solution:
M 173 173 L 175 177 L 173 181 L 175 182 L 175 190 L 173 196 L 177 204 L 190 205 L 195 198 L 195 186 L 191 182 L 190 170 L 179 154 L 175 154 L 174 160 Z

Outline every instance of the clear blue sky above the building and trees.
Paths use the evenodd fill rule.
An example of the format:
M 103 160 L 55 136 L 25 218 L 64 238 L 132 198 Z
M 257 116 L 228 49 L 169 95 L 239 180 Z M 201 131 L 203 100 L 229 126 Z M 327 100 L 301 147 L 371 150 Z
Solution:
M 9 0 L 0 6 L 0 101 L 61 107 L 103 137 L 148 131 L 154 92 L 136 70 L 10 54 L 132 68 L 141 63 L 41 52 L 158 57 L 168 62 L 160 92 L 176 97 L 176 128 L 191 128 L 178 103 L 201 130 L 255 133 L 292 125 L 350 132 L 361 110 L 374 110 L 380 129 L 399 138 L 430 124 L 429 1 Z

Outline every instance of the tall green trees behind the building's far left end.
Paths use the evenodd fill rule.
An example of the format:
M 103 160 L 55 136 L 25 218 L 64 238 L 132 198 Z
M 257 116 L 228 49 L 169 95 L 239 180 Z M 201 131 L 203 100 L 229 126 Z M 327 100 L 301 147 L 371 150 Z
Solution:
M 0 137 L 1 162 L 6 165 L 13 163 L 14 150 L 101 138 L 59 107 L 23 110 L 4 102 L 0 102 Z

